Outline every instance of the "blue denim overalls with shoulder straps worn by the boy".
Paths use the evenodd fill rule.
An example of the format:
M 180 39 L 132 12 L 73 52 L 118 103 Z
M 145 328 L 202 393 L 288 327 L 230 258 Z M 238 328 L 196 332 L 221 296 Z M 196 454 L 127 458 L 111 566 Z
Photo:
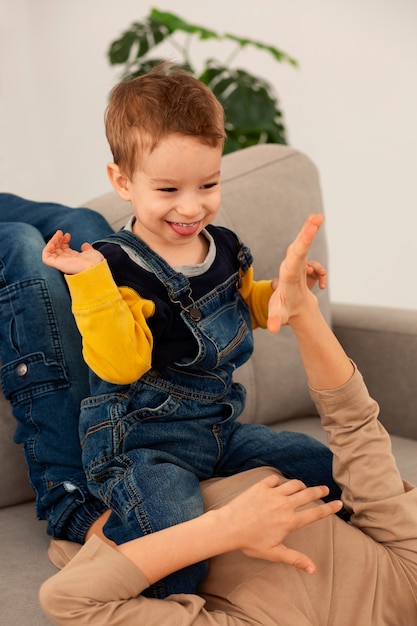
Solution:
M 260 465 L 309 485 L 327 484 L 339 497 L 324 445 L 303 434 L 236 421 L 245 390 L 232 376 L 253 350 L 249 309 L 239 293 L 249 250 L 239 243 L 240 269 L 194 302 L 188 278 L 132 233 L 122 231 L 108 241 L 132 247 L 165 285 L 197 352 L 188 362 L 152 369 L 122 388 L 96 379 L 97 395 L 83 402 L 87 478 L 113 511 L 105 534 L 120 544 L 194 518 L 203 513 L 199 481 Z M 151 593 L 195 593 L 205 571 L 205 563 L 186 568 Z

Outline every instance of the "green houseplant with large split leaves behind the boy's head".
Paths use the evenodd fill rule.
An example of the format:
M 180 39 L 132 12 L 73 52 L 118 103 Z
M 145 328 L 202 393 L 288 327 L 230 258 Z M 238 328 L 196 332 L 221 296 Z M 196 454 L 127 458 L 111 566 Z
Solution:
M 179 40 L 181 33 L 184 41 Z M 175 35 L 175 37 L 174 37 Z M 226 61 L 208 58 L 197 72 L 190 58 L 192 40 L 232 42 L 234 50 Z M 161 58 L 151 53 L 162 42 L 169 42 L 181 67 L 206 84 L 222 103 L 226 113 L 227 142 L 225 153 L 257 143 L 287 143 L 283 114 L 270 83 L 242 68 L 232 67 L 237 53 L 247 46 L 266 52 L 277 61 L 297 66 L 295 59 L 277 48 L 229 33 L 219 34 L 184 21 L 173 13 L 152 9 L 141 22 L 134 22 L 121 36 L 111 42 L 108 59 L 111 65 L 123 65 L 122 78 L 128 80 L 148 72 Z

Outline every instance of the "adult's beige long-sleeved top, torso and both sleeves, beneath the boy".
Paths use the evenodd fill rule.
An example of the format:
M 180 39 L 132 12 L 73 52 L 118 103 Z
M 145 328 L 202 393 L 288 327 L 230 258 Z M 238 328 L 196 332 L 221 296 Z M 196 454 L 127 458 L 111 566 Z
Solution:
M 329 434 L 334 476 L 351 524 L 330 517 L 293 533 L 288 546 L 316 563 L 314 576 L 240 552 L 211 560 L 201 596 L 151 600 L 143 574 L 98 537 L 44 583 L 41 603 L 56 624 L 99 626 L 415 626 L 417 489 L 402 481 L 378 406 L 362 377 L 311 391 Z M 273 470 L 202 485 L 218 506 Z M 68 552 L 65 542 L 56 549 Z

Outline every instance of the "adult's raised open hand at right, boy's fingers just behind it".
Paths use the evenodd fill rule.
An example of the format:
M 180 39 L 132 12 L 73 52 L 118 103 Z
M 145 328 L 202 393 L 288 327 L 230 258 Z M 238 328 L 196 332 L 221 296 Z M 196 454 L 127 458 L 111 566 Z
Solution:
M 317 262 L 307 261 L 314 237 L 324 221 L 323 215 L 310 215 L 294 242 L 288 247 L 279 270 L 278 285 L 269 300 L 267 328 L 277 333 L 281 326 L 290 324 L 315 296 L 310 288 L 318 281 L 323 288 L 326 271 Z

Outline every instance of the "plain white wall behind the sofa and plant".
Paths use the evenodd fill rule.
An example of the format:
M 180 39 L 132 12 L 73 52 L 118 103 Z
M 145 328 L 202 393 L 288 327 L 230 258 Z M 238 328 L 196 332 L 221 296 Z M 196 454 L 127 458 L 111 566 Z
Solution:
M 417 309 L 416 0 L 0 0 L 0 188 L 74 205 L 109 189 L 106 50 L 151 6 L 299 60 L 238 57 L 320 169 L 332 299 Z

